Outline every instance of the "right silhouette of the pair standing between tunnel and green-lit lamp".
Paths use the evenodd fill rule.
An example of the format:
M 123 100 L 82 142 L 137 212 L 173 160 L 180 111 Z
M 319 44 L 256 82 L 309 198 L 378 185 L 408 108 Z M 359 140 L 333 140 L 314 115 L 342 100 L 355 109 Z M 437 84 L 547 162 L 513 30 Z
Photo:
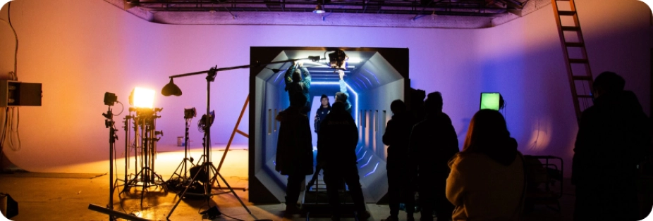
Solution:
M 417 163 L 417 191 L 422 206 L 420 220 L 433 220 L 433 208 L 438 217 L 451 217 L 453 205 L 446 200 L 447 162 L 458 153 L 458 137 L 451 119 L 442 113 L 442 96 L 430 93 L 424 102 L 426 118 L 413 127 L 410 135 L 410 156 Z M 438 221 L 444 219 L 438 218 Z

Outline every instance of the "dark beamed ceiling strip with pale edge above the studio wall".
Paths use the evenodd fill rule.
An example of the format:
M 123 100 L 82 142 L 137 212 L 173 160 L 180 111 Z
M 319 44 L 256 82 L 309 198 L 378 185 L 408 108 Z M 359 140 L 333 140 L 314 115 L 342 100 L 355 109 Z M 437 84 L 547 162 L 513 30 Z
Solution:
M 492 27 L 549 0 L 104 0 L 153 23 Z M 313 13 L 316 6 L 325 13 Z

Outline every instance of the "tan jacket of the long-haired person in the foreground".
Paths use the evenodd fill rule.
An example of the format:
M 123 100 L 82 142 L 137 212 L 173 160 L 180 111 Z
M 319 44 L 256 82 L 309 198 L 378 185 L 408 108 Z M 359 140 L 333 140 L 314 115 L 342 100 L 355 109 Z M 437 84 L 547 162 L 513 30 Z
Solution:
M 456 154 L 446 179 L 446 198 L 456 206 L 453 221 L 518 220 L 525 178 L 521 153 L 513 155 L 504 165 L 484 153 Z

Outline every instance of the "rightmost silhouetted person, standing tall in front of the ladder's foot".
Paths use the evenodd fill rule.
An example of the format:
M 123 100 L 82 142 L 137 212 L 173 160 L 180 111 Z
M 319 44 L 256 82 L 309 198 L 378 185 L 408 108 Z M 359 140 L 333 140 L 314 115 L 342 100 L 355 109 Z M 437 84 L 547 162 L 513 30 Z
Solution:
M 572 164 L 574 220 L 640 220 L 637 164 L 648 147 L 647 116 L 614 72 L 594 80 L 594 106 L 582 112 Z

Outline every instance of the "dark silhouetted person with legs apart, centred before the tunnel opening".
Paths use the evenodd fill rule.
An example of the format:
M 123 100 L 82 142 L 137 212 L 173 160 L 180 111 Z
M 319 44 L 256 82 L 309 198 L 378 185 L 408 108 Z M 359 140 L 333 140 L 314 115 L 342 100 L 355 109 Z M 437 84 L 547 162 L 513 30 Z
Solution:
M 338 187 L 343 179 L 349 187 L 359 220 L 367 220 L 370 213 L 365 209 L 356 167 L 356 146 L 358 128 L 346 112 L 342 102 L 334 103 L 331 113 L 326 115 L 317 135 L 317 163 L 324 170 L 324 184 L 331 206 L 331 219 L 341 217 Z

